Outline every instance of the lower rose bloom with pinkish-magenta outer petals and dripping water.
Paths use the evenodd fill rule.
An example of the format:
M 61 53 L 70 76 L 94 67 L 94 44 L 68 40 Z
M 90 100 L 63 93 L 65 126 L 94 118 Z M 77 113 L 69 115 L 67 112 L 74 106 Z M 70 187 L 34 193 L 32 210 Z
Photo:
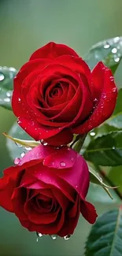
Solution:
M 72 234 L 79 213 L 91 224 L 97 214 L 86 201 L 90 183 L 86 161 L 68 147 L 39 145 L 0 179 L 0 206 L 30 232 Z

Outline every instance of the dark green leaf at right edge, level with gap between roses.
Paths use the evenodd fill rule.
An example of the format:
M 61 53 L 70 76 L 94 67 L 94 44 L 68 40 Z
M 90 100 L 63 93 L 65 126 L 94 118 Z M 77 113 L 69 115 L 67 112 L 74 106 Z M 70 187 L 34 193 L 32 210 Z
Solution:
M 83 157 L 94 165 L 122 165 L 122 132 L 110 132 L 93 139 Z

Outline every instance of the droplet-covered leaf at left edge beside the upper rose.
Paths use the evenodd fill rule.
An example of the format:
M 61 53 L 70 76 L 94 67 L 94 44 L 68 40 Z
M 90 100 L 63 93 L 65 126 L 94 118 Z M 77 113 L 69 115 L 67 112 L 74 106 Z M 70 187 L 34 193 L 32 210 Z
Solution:
M 0 67 L 0 106 L 11 109 L 11 97 L 13 95 L 13 77 L 17 69 Z

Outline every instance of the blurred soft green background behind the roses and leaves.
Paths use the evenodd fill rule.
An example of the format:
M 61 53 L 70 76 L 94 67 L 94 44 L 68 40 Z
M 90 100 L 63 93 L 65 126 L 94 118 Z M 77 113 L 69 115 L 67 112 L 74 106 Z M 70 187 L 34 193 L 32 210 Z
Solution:
M 94 43 L 122 35 L 121 9 L 121 0 L 0 0 L 0 65 L 19 69 L 34 50 L 50 41 L 65 43 L 83 56 Z M 1 173 L 12 164 L 1 134 L 15 120 L 13 113 L 0 108 Z M 100 214 L 116 204 L 95 202 L 95 206 Z M 36 243 L 35 233 L 1 209 L 0 255 L 82 256 L 90 228 L 81 217 L 68 241 L 44 237 Z

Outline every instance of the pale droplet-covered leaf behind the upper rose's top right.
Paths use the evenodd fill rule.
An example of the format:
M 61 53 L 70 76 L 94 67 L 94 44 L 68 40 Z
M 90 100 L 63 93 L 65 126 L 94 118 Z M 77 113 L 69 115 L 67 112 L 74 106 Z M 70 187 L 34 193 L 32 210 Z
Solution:
M 114 74 L 120 64 L 121 57 L 122 37 L 116 36 L 113 39 L 107 39 L 100 43 L 96 43 L 91 47 L 84 59 L 91 69 L 94 68 L 98 61 L 103 61 Z

